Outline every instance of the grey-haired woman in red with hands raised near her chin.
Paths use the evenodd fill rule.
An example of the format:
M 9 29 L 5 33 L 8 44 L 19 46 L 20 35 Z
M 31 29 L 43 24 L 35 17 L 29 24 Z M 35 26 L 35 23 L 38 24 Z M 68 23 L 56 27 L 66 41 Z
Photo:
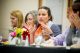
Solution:
M 23 25 L 23 28 L 29 30 L 30 34 L 30 44 L 34 42 L 34 32 L 36 30 L 36 19 L 37 19 L 37 12 L 36 11 L 30 11 L 25 16 L 25 24 Z

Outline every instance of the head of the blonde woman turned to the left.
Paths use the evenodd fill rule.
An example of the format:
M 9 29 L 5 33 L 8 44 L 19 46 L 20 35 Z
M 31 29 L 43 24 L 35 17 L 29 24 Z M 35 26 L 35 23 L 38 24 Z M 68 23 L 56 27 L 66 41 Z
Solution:
M 10 19 L 11 19 L 11 24 L 12 27 L 15 29 L 17 28 L 21 28 L 22 27 L 22 23 L 23 23 L 23 14 L 21 11 L 19 10 L 14 10 L 10 13 Z

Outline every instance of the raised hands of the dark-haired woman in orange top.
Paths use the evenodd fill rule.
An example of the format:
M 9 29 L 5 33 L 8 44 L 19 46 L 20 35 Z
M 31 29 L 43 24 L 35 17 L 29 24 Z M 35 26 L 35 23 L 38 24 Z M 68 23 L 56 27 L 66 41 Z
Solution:
M 43 22 L 40 23 L 42 26 L 42 36 L 44 40 L 50 39 L 50 34 L 52 34 L 52 30 L 48 27 L 47 24 L 44 24 Z

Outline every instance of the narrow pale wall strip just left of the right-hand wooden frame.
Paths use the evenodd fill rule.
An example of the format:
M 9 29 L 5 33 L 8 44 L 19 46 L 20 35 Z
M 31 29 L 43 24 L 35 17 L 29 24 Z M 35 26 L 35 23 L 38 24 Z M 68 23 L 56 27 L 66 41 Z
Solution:
M 63 2 L 62 31 L 64 32 L 64 30 L 70 26 L 70 22 L 67 19 L 68 0 L 64 0 Z

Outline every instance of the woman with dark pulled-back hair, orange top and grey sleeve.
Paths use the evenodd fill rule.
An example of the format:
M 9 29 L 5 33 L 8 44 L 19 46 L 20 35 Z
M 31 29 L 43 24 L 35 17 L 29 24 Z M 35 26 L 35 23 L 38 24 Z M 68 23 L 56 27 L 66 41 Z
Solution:
M 53 24 L 51 11 L 48 7 L 43 6 L 38 9 L 37 19 L 39 24 L 34 36 L 36 43 L 40 43 L 42 39 L 49 40 L 50 36 L 57 36 L 61 33 L 59 27 Z

